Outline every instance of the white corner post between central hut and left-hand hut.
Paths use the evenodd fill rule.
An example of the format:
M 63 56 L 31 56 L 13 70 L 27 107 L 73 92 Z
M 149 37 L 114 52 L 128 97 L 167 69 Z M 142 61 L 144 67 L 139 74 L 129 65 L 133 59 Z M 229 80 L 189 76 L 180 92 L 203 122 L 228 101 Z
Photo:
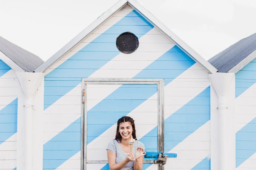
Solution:
M 44 73 L 16 72 L 20 90 L 18 93 L 18 120 L 17 120 L 17 170 L 34 170 L 33 161 L 35 157 L 33 146 L 34 144 L 34 114 L 39 114 L 41 104 L 34 102 L 34 95 L 43 80 Z M 43 97 L 42 97 L 43 98 Z M 38 125 L 40 123 L 38 122 Z

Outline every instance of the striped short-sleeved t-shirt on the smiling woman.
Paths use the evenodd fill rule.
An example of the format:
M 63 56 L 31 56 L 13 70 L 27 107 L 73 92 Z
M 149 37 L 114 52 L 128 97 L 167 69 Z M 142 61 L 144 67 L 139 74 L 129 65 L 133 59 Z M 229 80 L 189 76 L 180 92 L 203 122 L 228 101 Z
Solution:
M 135 140 L 135 142 L 133 144 L 133 148 L 132 148 L 133 155 L 135 154 L 135 150 L 138 147 L 141 147 L 141 148 L 145 149 L 145 146 L 141 141 Z M 127 154 L 128 154 L 128 153 L 125 153 L 122 150 L 122 148 L 120 146 L 120 141 L 119 140 L 117 141 L 116 139 L 113 139 L 112 141 L 110 141 L 108 143 L 108 148 L 107 149 L 116 153 L 116 155 L 117 155 L 116 163 L 119 163 L 119 162 L 123 161 L 126 158 Z M 135 155 L 134 155 L 134 157 L 135 157 Z M 133 164 L 134 164 L 134 161 L 130 161 L 121 170 L 133 170 Z

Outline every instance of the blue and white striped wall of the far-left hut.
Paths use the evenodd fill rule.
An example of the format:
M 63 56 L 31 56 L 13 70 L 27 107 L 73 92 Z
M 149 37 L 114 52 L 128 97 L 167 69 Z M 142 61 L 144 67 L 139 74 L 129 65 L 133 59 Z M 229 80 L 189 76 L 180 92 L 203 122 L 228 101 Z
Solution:
M 0 60 L 0 170 L 16 168 L 18 79 Z

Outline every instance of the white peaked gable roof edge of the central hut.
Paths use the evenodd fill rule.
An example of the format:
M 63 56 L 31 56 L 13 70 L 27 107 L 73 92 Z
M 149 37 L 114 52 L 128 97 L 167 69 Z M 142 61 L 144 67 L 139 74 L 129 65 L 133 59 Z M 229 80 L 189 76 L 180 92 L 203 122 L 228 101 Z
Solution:
M 217 69 L 214 68 L 207 60 L 205 60 L 202 56 L 196 53 L 191 47 L 189 47 L 185 42 L 180 40 L 170 29 L 168 29 L 162 22 L 157 20 L 149 11 L 144 9 L 136 0 L 119 0 L 114 6 L 112 6 L 108 11 L 103 13 L 97 20 L 92 22 L 86 29 L 84 29 L 81 33 L 79 33 L 75 38 L 73 38 L 69 43 L 67 43 L 63 48 L 61 48 L 58 52 L 56 52 L 52 57 L 46 60 L 42 65 L 36 68 L 36 72 L 43 72 L 49 68 L 52 64 L 57 62 L 63 55 L 71 51 L 76 44 L 83 41 L 87 38 L 95 29 L 97 29 L 101 24 L 103 24 L 108 18 L 114 15 L 117 11 L 122 9 L 126 5 L 130 5 L 130 7 L 134 8 L 141 16 L 143 16 L 148 22 L 157 27 L 159 31 L 162 31 L 166 37 L 170 38 L 175 45 L 177 45 L 184 53 L 189 55 L 195 62 L 197 62 L 200 66 L 202 66 L 209 73 L 217 72 Z

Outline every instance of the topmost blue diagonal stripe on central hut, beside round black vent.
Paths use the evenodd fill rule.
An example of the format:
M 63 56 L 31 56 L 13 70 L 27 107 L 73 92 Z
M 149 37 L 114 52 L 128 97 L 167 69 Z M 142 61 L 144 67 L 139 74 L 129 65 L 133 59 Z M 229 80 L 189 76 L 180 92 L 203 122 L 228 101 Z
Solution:
M 132 20 L 131 20 L 132 18 Z M 125 25 L 123 23 L 129 23 L 129 25 Z M 139 24 L 139 25 L 137 25 Z M 110 41 L 109 43 L 104 42 L 104 37 L 106 35 L 104 34 L 117 34 L 119 35 L 120 33 L 126 32 L 126 31 L 133 31 L 137 35 L 138 38 L 140 38 L 142 35 L 146 34 L 148 31 L 150 31 L 153 28 L 153 26 L 147 22 L 139 13 L 136 11 L 131 11 L 128 15 L 126 15 L 124 18 L 122 18 L 119 22 L 117 22 L 115 25 L 111 26 L 110 29 L 105 31 L 103 35 L 99 35 L 97 38 L 95 38 L 91 43 L 86 45 L 83 49 L 80 51 L 83 51 L 84 53 L 84 61 L 83 60 L 76 60 L 77 55 L 73 55 L 70 57 L 69 60 L 66 60 L 63 64 L 58 66 L 56 69 L 54 69 L 52 72 L 47 74 L 45 78 L 60 78 L 60 77 L 71 77 L 71 78 L 86 78 L 89 77 L 92 73 L 97 71 L 101 66 L 106 64 L 108 61 L 110 61 L 112 58 L 114 58 L 117 54 L 120 52 L 118 51 L 115 42 Z M 104 52 L 108 53 L 105 60 L 88 60 L 86 59 L 87 57 L 87 52 L 91 53 L 91 51 L 97 51 L 98 52 Z M 82 64 L 82 65 L 81 65 Z M 84 67 L 83 64 L 88 64 L 87 66 L 90 66 L 89 68 Z M 70 69 L 70 66 L 72 66 L 73 69 Z M 75 67 L 75 68 L 74 68 Z M 67 92 L 72 90 L 77 84 L 80 82 L 74 81 L 72 84 L 70 83 L 70 86 L 65 86 L 65 84 L 59 84 L 58 86 L 58 91 L 54 91 L 54 88 L 47 88 L 47 83 L 45 84 L 45 93 L 52 94 L 51 96 L 46 96 L 45 95 L 45 102 L 47 105 L 45 105 L 45 109 L 56 102 L 60 97 L 65 95 Z M 64 88 L 60 88 L 64 87 Z M 56 94 L 59 93 L 59 94 Z

